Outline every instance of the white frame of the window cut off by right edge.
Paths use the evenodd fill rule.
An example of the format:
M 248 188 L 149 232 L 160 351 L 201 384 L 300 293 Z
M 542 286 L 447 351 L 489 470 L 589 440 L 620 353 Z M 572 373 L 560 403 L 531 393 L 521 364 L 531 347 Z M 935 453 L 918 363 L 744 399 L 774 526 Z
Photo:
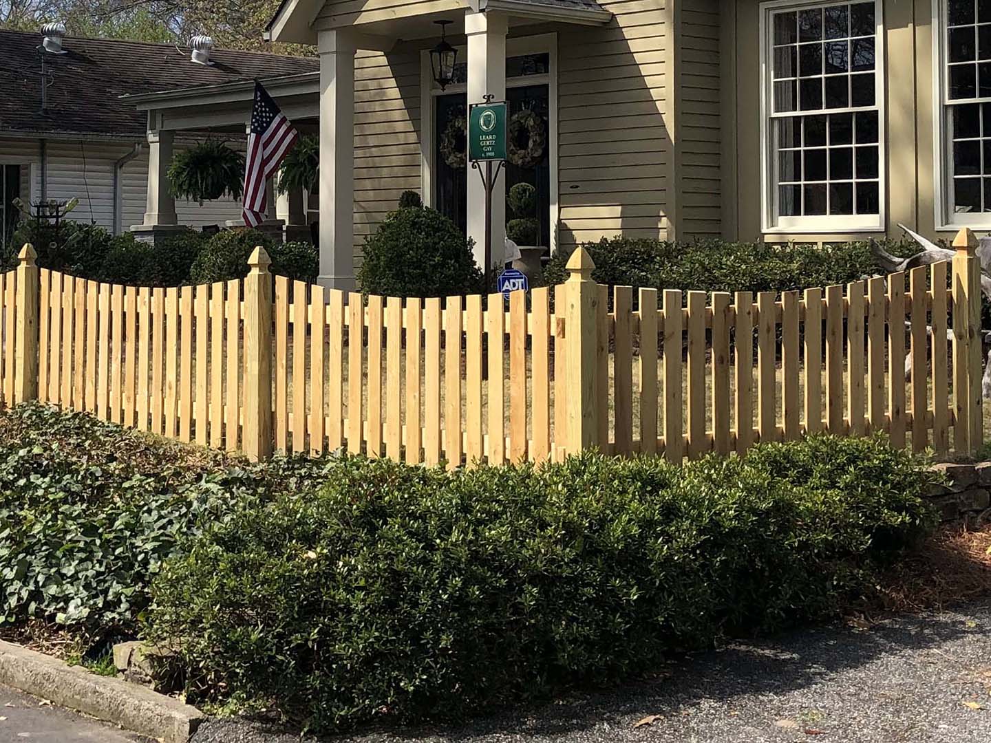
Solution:
M 949 101 L 949 64 L 946 46 L 949 39 L 949 3 L 933 0 L 933 172 L 935 175 L 936 230 L 958 230 L 969 227 L 977 230 L 991 229 L 991 211 L 953 211 L 953 140 L 949 136 L 949 117 L 953 106 L 991 102 L 991 98 Z M 983 184 L 982 184 L 983 187 Z

